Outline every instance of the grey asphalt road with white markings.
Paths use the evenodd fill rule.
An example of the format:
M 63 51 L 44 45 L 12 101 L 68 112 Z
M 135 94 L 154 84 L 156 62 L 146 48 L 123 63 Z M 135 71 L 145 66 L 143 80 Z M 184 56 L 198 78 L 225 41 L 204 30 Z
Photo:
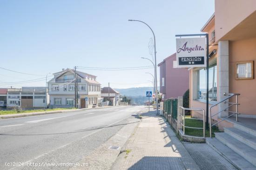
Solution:
M 75 163 L 125 126 L 126 119 L 144 109 L 108 107 L 0 120 L 0 170 L 68 169 L 27 163 Z

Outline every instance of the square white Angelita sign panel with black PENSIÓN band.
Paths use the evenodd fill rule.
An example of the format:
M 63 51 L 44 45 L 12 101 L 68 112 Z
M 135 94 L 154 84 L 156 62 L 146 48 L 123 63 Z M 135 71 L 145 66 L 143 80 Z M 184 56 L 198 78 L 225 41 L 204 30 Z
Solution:
M 206 67 L 206 38 L 176 38 L 177 68 Z

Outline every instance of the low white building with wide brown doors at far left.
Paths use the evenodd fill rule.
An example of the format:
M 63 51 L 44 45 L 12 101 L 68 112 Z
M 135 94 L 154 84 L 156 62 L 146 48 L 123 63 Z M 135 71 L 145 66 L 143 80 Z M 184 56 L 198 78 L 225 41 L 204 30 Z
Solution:
M 7 89 L 7 107 L 42 108 L 48 105 L 46 87 L 22 87 Z

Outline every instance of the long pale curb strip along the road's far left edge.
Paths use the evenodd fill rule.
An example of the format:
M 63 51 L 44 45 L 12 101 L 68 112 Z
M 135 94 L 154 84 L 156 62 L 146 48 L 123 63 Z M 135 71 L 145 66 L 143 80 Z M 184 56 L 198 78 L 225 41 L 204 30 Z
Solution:
M 110 106 L 110 107 L 119 107 L 119 106 Z M 108 107 L 82 108 L 82 109 L 70 109 L 70 110 L 66 109 L 66 110 L 34 112 L 34 113 L 18 113 L 18 115 L 7 114 L 8 116 L 7 115 L 0 116 L 0 119 L 21 118 L 21 117 L 27 117 L 27 116 L 37 116 L 37 115 L 44 115 L 44 114 L 55 114 L 55 113 L 66 113 L 66 112 L 78 112 L 83 110 L 99 109 L 99 108 L 108 108 Z

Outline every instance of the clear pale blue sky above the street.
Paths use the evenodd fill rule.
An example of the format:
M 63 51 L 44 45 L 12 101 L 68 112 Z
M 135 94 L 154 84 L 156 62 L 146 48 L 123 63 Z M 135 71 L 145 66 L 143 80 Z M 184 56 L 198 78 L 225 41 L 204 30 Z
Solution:
M 46 86 L 46 75 L 73 69 L 150 66 L 175 53 L 175 35 L 200 33 L 214 0 L 0 0 L 0 88 Z M 27 73 L 21 74 L 13 71 Z M 102 87 L 153 86 L 154 69 L 78 69 Z M 30 75 L 28 75 L 30 74 Z M 157 69 L 159 84 L 159 68 Z M 35 80 L 39 79 L 39 80 Z M 34 80 L 36 82 L 26 82 Z M 21 83 L 22 82 L 22 83 Z

